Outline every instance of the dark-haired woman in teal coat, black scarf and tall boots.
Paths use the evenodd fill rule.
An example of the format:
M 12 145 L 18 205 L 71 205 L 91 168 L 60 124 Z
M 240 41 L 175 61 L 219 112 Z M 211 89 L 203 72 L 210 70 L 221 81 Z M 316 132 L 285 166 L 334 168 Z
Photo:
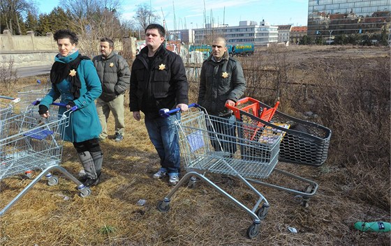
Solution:
M 77 106 L 78 109 L 70 114 L 64 140 L 71 141 L 75 146 L 86 173 L 80 181 L 90 187 L 99 183 L 103 162 L 98 141 L 102 128 L 94 103 L 102 93 L 101 81 L 92 61 L 79 54 L 75 33 L 59 30 L 54 33 L 54 40 L 59 54 L 50 70 L 52 89 L 41 100 L 39 114 L 44 118 L 50 116 L 50 104 L 60 97 L 66 107 L 60 107 L 59 114 Z

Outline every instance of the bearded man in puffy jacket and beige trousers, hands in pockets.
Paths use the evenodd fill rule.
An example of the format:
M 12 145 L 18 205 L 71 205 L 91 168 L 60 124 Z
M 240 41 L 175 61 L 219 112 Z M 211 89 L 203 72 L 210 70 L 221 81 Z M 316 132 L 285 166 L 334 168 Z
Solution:
M 96 110 L 101 121 L 99 139 L 108 137 L 107 123 L 110 112 L 115 119 L 115 141 L 124 139 L 124 93 L 129 89 L 131 70 L 126 60 L 113 52 L 110 38 L 101 39 L 101 55 L 95 56 L 94 66 L 102 83 L 102 95 L 96 100 Z

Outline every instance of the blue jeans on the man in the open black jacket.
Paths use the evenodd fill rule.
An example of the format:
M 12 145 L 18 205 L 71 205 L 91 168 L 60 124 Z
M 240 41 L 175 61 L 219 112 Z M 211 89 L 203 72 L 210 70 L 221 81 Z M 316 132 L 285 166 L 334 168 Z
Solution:
M 175 121 L 181 114 L 173 114 L 168 118 L 149 118 L 145 116 L 149 139 L 154 144 L 160 157 L 161 171 L 168 172 L 169 176 L 177 176 L 180 171 L 180 155 L 177 127 Z

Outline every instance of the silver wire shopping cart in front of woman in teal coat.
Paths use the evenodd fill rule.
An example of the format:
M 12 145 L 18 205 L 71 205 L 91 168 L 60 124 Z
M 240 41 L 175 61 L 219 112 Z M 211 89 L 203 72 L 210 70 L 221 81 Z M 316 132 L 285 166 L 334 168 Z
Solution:
M 42 171 L 0 210 L 0 216 L 6 213 L 44 176 L 47 178 L 47 185 L 57 185 L 59 178 L 50 174 L 52 170 L 60 171 L 66 178 L 78 185 L 81 197 L 91 194 L 88 187 L 60 166 L 63 151 L 62 135 L 75 109 L 77 108 L 74 107 L 63 115 L 52 114 L 49 118 L 38 120 L 37 109 L 31 106 L 26 112 L 8 118 L 2 125 L 2 128 L 8 129 L 8 136 L 0 139 L 0 181 L 27 170 L 40 169 Z

